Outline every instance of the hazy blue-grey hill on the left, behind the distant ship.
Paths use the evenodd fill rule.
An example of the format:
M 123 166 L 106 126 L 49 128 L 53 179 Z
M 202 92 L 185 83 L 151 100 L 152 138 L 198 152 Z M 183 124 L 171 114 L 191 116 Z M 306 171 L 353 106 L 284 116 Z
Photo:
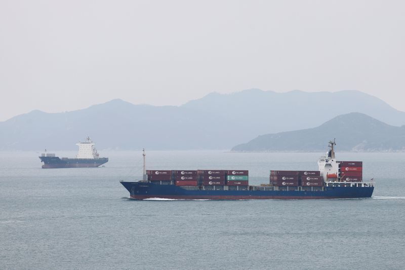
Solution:
M 76 149 L 87 135 L 99 149 L 215 148 L 222 143 L 217 140 L 222 131 L 207 127 L 217 122 L 224 120 L 176 106 L 116 99 L 70 112 L 36 110 L 0 123 L 0 149 Z

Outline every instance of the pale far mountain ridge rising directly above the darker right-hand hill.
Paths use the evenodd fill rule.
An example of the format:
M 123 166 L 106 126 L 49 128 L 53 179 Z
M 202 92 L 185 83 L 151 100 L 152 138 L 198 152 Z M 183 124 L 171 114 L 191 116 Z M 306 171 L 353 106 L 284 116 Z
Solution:
M 236 125 L 227 125 L 226 128 L 257 132 L 253 136 L 316 127 L 349 112 L 365 113 L 393 126 L 405 124 L 405 112 L 392 108 L 379 98 L 354 90 L 276 93 L 251 89 L 228 95 L 211 93 L 183 107 L 223 115 L 233 120 L 229 124 Z

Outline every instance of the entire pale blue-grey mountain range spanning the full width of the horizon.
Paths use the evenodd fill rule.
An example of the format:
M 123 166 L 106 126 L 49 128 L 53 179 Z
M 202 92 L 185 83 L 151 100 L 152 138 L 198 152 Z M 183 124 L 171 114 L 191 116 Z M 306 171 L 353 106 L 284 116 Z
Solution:
M 0 150 L 76 149 L 74 143 L 88 135 L 99 149 L 230 149 L 257 134 L 315 127 L 352 111 L 391 125 L 405 124 L 405 112 L 358 91 L 252 89 L 212 93 L 182 106 L 116 99 L 70 112 L 35 110 L 0 122 Z

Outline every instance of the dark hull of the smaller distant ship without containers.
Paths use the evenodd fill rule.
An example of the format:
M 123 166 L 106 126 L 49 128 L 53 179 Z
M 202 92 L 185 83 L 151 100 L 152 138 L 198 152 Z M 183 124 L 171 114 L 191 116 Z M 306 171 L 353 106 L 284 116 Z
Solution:
M 99 167 L 108 162 L 108 158 L 98 159 L 67 159 L 58 157 L 39 157 L 44 163 L 43 169 L 55 169 L 55 168 L 91 168 Z

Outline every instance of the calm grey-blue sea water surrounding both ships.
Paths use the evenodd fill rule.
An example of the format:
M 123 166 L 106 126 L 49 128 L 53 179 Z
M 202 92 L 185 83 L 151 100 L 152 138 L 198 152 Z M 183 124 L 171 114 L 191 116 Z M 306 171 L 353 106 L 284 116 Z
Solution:
M 75 152 L 58 152 L 73 157 Z M 102 152 L 102 168 L 41 169 L 0 152 L 1 269 L 399 269 L 405 260 L 405 153 L 362 160 L 371 199 L 129 200 L 140 152 Z M 320 153 L 149 151 L 149 169 L 316 170 Z

